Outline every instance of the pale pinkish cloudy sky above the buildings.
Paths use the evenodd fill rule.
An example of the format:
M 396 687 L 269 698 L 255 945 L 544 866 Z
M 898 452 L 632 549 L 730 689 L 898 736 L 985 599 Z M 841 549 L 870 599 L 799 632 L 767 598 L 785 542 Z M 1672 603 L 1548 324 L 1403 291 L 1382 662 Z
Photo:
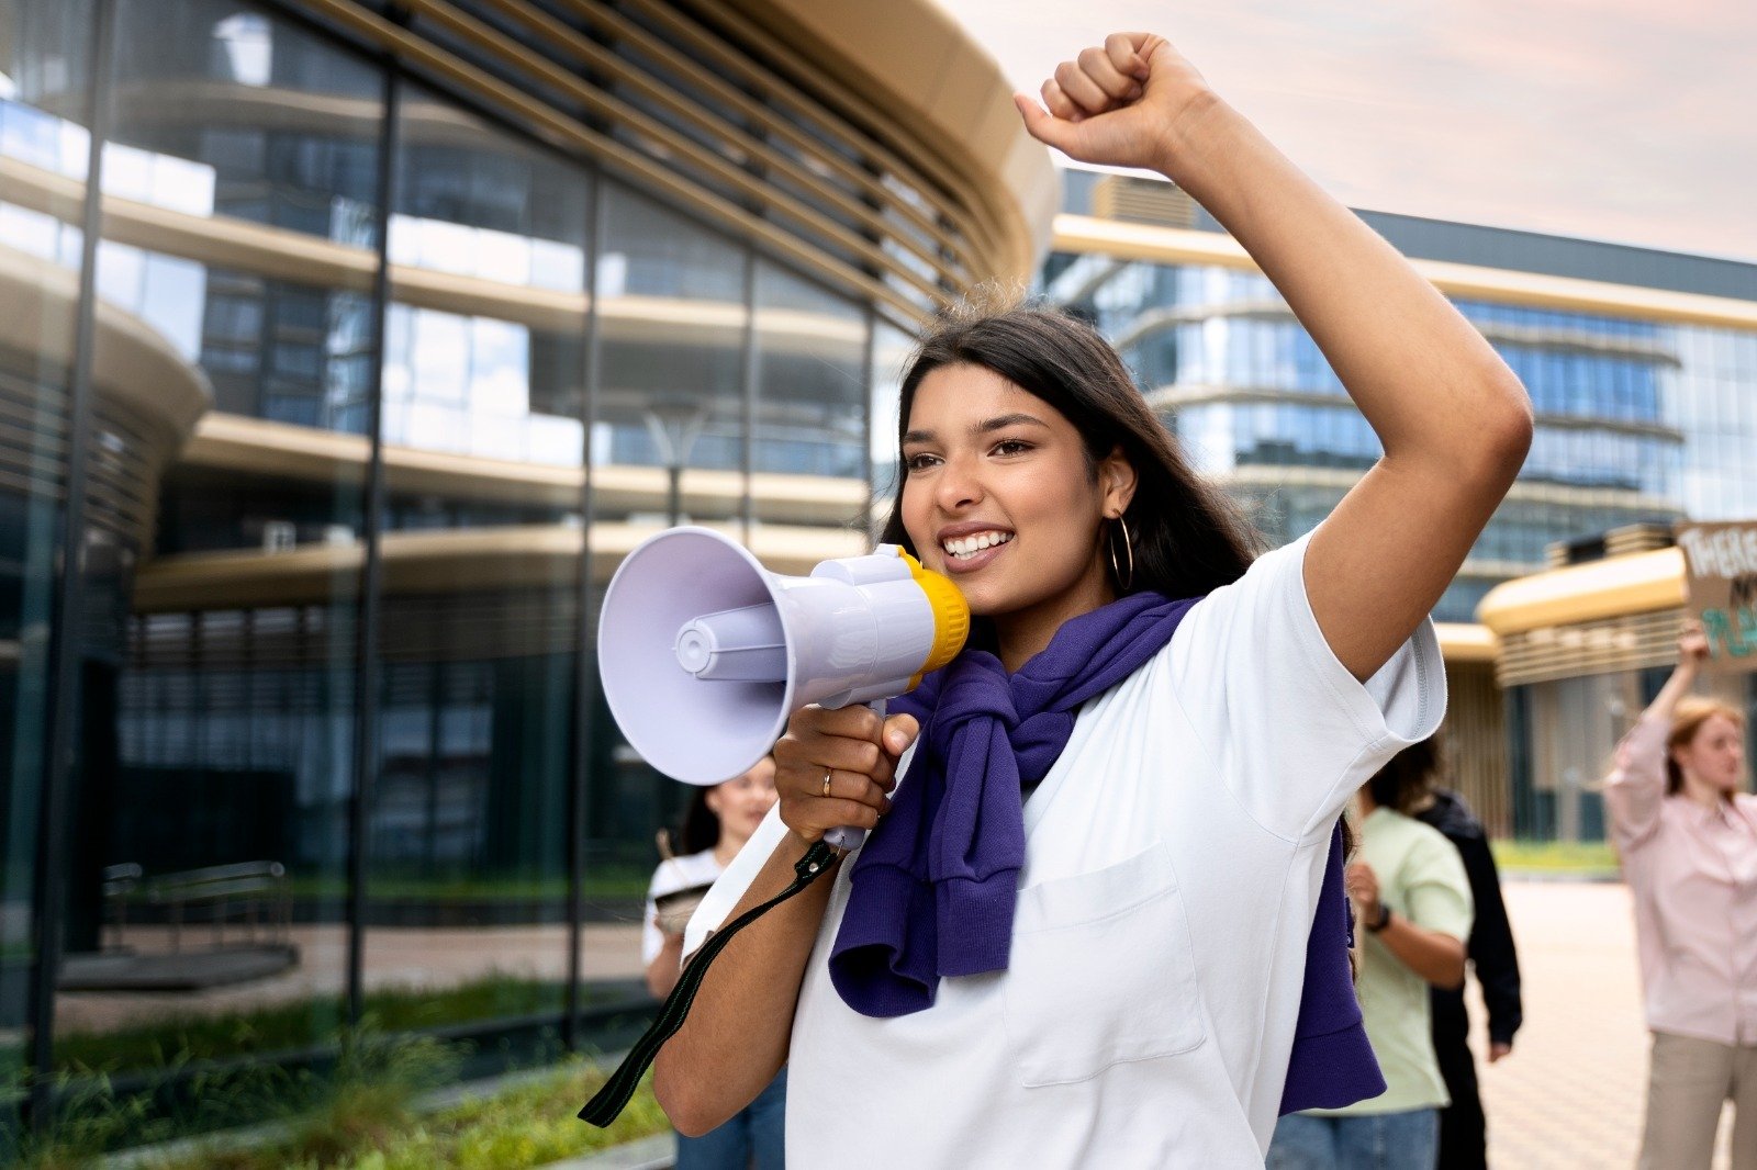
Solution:
M 1035 93 L 1165 33 L 1353 207 L 1757 262 L 1757 0 L 938 0 Z

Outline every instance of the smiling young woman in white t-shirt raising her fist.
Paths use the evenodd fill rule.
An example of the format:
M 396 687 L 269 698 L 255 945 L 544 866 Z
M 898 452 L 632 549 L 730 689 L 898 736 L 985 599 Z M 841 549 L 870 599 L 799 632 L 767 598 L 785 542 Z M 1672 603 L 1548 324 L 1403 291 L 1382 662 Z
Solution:
M 1074 158 L 1200 199 L 1385 459 L 1251 564 L 1093 330 L 998 311 L 929 332 L 887 539 L 951 574 L 979 629 L 914 713 L 792 719 L 777 815 L 685 952 L 784 889 L 826 829 L 877 829 L 722 952 L 655 1091 L 701 1131 L 785 1063 L 801 1165 L 1260 1165 L 1332 826 L 1441 717 L 1425 618 L 1513 481 L 1530 408 L 1165 39 L 1114 35 L 1058 69 L 1047 111 L 1017 104 Z

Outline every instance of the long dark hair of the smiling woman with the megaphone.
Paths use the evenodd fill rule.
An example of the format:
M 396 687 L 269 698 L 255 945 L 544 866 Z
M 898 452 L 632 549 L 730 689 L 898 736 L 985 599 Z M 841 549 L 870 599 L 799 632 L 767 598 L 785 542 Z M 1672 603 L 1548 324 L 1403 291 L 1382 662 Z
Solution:
M 1088 469 L 1116 448 L 1135 469 L 1135 495 L 1123 513 L 1133 546 L 1132 580 L 1117 592 L 1158 590 L 1195 597 L 1239 580 L 1256 555 L 1256 532 L 1239 508 L 1202 481 L 1177 439 L 1147 406 L 1123 358 L 1091 325 L 1035 306 L 984 307 L 965 302 L 940 313 L 921 336 L 898 395 L 898 450 L 922 378 L 945 365 L 982 365 L 1074 423 Z M 910 553 L 898 473 L 884 539 Z M 1114 527 L 1114 525 L 1112 525 Z M 1119 541 L 1112 541 L 1119 546 Z

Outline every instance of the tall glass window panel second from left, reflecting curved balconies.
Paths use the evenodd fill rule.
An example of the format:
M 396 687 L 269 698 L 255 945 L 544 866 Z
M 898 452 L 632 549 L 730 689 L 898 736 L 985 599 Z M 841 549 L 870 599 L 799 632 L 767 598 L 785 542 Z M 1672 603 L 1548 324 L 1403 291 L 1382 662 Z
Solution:
M 56 1059 L 223 1086 L 343 1019 L 381 77 L 221 0 L 118 0 L 116 42 L 98 292 L 125 327 L 93 367 L 127 394 L 90 473 L 170 466 L 137 527 L 90 522 L 114 603 L 86 608 L 69 961 L 93 973 Z

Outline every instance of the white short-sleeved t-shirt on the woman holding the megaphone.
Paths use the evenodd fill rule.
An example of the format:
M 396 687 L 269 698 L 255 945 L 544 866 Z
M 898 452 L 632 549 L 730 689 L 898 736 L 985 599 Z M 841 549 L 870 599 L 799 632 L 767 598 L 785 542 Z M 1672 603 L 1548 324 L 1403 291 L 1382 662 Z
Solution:
M 868 1019 L 829 982 L 845 861 L 806 966 L 787 1158 L 840 1166 L 1260 1166 L 1330 829 L 1446 704 L 1423 627 L 1365 685 L 1305 601 L 1307 539 L 1262 557 L 1088 703 L 1024 806 L 1012 957 Z M 691 921 L 738 903 L 771 813 Z M 736 945 L 736 943 L 734 943 Z

